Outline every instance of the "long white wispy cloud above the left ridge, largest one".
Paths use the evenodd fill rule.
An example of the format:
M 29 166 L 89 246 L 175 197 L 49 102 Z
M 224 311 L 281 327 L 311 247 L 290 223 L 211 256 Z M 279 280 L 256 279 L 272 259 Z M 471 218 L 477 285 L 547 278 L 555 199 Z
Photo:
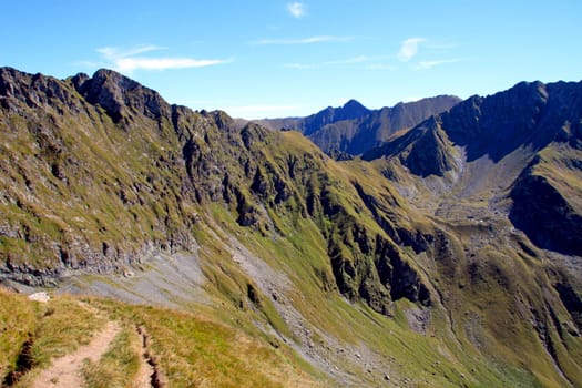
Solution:
M 169 70 L 205 68 L 232 62 L 232 59 L 194 59 L 183 57 L 143 57 L 141 54 L 161 51 L 165 48 L 152 44 L 142 44 L 129 49 L 115 47 L 100 48 L 96 51 L 103 57 L 105 64 L 113 69 L 131 73 L 135 70 Z

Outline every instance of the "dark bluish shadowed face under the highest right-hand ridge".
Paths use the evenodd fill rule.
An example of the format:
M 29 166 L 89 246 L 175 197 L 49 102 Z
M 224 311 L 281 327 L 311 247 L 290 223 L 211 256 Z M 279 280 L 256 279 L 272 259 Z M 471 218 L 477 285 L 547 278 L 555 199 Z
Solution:
M 488 98 L 473 96 L 440 115 L 455 145 L 467 160 L 487 154 L 494 162 L 521 146 L 538 151 L 552 141 L 566 141 L 580 131 L 582 82 L 521 82 Z

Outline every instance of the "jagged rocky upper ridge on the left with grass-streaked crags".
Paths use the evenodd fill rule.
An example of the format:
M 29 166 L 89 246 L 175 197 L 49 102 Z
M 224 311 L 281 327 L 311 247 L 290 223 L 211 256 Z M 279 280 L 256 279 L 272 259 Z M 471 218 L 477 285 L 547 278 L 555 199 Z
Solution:
M 198 207 L 218 202 L 265 235 L 284 231 L 287 214 L 310 219 L 341 293 L 387 310 L 392 279 L 378 263 L 400 262 L 397 248 L 365 226 L 326 156 L 292 146 L 294 134 L 238 131 L 224 113 L 170 106 L 110 71 L 68 82 L 4 73 L 2 272 L 108 270 L 152 247 L 190 249 Z M 27 88 L 35 101 L 23 105 Z

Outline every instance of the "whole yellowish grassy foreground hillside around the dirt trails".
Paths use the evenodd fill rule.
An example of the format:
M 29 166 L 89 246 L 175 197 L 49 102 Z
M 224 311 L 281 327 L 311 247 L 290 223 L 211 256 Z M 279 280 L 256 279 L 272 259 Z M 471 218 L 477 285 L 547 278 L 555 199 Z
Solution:
M 320 385 L 288 356 L 288 350 L 263 345 L 241 330 L 201 315 L 86 298 L 78 302 L 58 297 L 39 304 L 4 290 L 0 290 L 0 306 L 11 308 L 10 314 L 2 310 L 0 316 L 8 328 L 16 326 L 17 318 L 29 316 L 22 320 L 28 326 L 19 325 L 20 330 L 14 329 L 11 334 L 2 330 L 1 334 L 1 343 L 10 344 L 1 353 L 2 379 L 17 369 L 19 349 L 29 334 L 32 338 L 29 354 L 32 368 L 19 376 L 19 386 L 30 384 L 52 357 L 86 344 L 105 319 L 122 323 L 123 329 L 100 363 L 85 366 L 89 387 L 131 386 L 141 357 L 135 350 L 135 326 L 145 327 L 151 351 L 160 360 L 162 372 L 172 387 Z

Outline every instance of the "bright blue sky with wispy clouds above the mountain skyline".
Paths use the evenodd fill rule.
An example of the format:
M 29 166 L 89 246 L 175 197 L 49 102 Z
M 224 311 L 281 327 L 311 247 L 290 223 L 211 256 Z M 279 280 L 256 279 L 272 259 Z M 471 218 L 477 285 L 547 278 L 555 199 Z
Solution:
M 0 65 L 247 119 L 582 79 L 580 0 L 7 0 Z

